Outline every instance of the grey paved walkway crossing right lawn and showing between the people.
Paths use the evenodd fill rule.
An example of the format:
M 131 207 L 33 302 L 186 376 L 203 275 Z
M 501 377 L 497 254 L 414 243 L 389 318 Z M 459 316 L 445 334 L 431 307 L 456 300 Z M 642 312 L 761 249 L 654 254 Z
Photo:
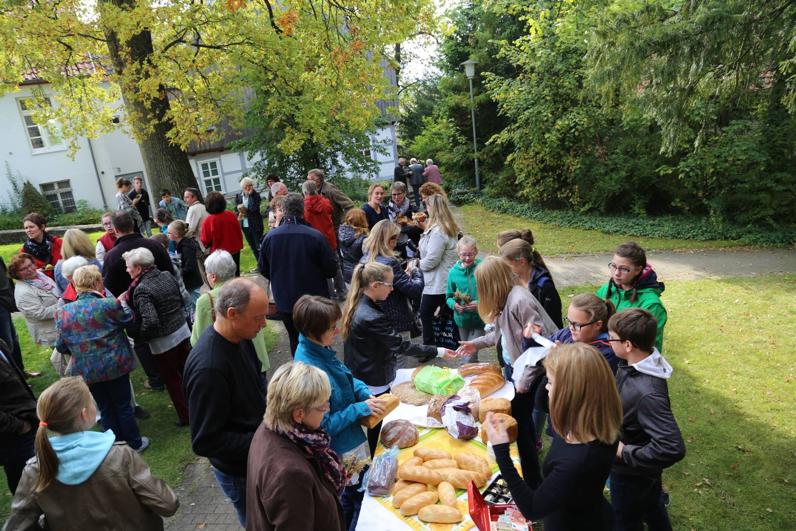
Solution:
M 658 278 L 662 280 L 714 279 L 736 276 L 781 275 L 796 273 L 796 250 L 775 249 L 762 251 L 699 251 L 699 252 L 650 252 L 647 260 L 653 264 Z M 594 255 L 555 256 L 545 260 L 559 286 L 587 283 L 604 283 L 608 279 L 607 264 L 611 253 Z M 250 278 L 266 287 L 262 276 Z M 279 343 L 271 349 L 270 379 L 274 371 L 291 361 L 290 344 L 282 322 L 269 321 L 279 331 Z M 417 340 L 415 340 L 417 341 Z M 342 359 L 342 340 L 334 343 L 338 357 Z M 491 349 L 490 349 L 491 350 Z M 486 356 L 494 356 L 489 351 Z M 458 361 L 435 361 L 437 365 L 454 366 Z M 410 358 L 410 367 L 418 365 Z M 224 497 L 215 478 L 213 468 L 206 459 L 197 459 L 185 468 L 185 480 L 177 489 L 182 502 L 180 512 L 166 519 L 169 531 L 204 529 L 205 531 L 240 530 L 235 510 Z

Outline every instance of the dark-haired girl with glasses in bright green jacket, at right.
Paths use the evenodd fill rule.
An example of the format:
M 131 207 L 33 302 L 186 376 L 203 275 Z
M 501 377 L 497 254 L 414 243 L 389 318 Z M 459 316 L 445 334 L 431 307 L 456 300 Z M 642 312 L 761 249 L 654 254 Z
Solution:
M 649 310 L 657 320 L 655 348 L 662 353 L 666 309 L 661 303 L 661 294 L 665 286 L 658 282 L 655 271 L 647 263 L 644 249 L 634 241 L 619 245 L 608 264 L 608 271 L 611 279 L 597 290 L 597 296 L 610 300 L 617 311 L 626 308 Z

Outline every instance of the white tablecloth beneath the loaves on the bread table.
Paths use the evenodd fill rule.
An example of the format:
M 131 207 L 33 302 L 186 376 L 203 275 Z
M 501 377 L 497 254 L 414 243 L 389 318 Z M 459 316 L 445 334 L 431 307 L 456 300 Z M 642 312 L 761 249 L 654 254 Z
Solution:
M 392 385 L 398 385 L 404 381 L 412 379 L 412 371 L 414 369 L 399 369 L 397 376 Z M 490 397 L 492 398 L 505 398 L 512 400 L 514 397 L 514 386 L 510 381 L 507 381 L 503 387 L 493 392 Z M 413 406 L 411 404 L 404 404 L 401 402 L 397 408 L 393 409 L 388 416 L 384 417 L 384 424 L 391 420 L 412 420 L 415 417 L 424 417 L 428 410 L 427 404 L 422 406 Z M 418 428 L 421 433 L 423 428 Z M 390 512 L 386 507 L 382 506 L 376 501 L 376 498 L 371 497 L 365 493 L 365 498 L 362 500 L 362 509 L 359 513 L 359 520 L 357 521 L 357 531 L 414 531 L 412 527 L 406 524 L 405 521 L 396 517 L 395 513 Z

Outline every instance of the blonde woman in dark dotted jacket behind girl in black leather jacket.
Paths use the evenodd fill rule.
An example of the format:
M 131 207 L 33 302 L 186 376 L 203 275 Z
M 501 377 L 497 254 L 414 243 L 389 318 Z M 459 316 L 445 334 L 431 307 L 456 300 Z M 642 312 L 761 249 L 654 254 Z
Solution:
M 365 256 L 362 256 L 360 264 L 378 262 L 392 268 L 392 292 L 377 304 L 387 316 L 392 330 L 404 339 L 412 339 L 412 335 L 420 334 L 412 317 L 412 303 L 419 302 L 425 281 L 423 271 L 414 262 L 410 262 L 406 269 L 400 266 L 400 255 L 396 252 L 399 234 L 400 228 L 392 221 L 379 221 L 362 244 Z M 408 362 L 407 357 L 398 354 L 396 369 L 405 369 Z

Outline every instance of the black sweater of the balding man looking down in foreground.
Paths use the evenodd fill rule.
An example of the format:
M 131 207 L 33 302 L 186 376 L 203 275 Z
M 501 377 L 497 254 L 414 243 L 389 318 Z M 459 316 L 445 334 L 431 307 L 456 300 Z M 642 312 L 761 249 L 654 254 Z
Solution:
M 246 477 L 254 432 L 263 422 L 267 383 L 251 340 L 228 342 L 213 325 L 193 346 L 182 376 L 191 447 L 224 474 Z

